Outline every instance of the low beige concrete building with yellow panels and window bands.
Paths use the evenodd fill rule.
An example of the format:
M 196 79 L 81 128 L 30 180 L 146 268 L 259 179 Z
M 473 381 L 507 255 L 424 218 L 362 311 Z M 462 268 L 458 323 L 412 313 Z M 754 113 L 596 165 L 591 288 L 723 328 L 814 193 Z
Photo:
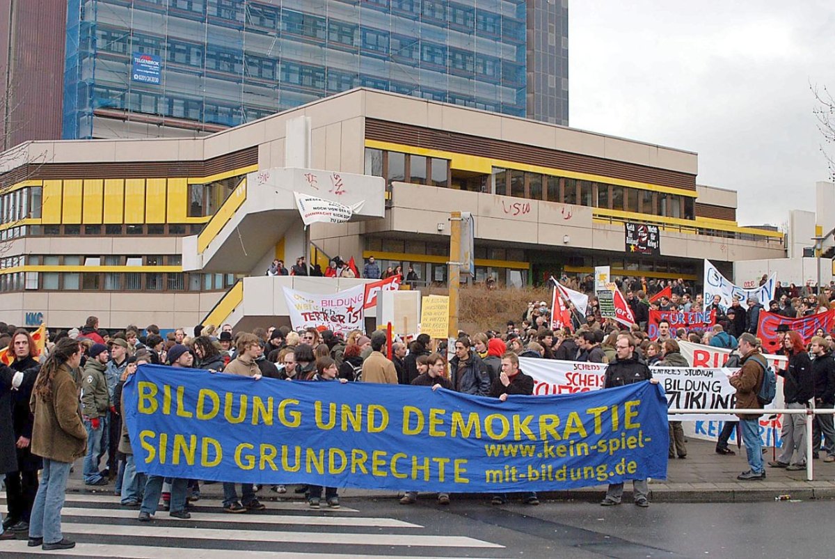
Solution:
M 443 283 L 455 210 L 475 216 L 477 282 L 528 285 L 595 265 L 698 282 L 703 258 L 730 274 L 731 262 L 785 252 L 781 233 L 738 226 L 736 192 L 697 185 L 695 153 L 355 89 L 200 138 L 29 142 L 0 156 L 7 322 L 66 327 L 94 313 L 103 328 L 165 328 L 220 307 L 212 321 L 225 321 L 247 297 L 274 301 L 269 287 L 230 287 L 273 257 L 292 263 L 297 230 L 279 214 L 257 221 L 235 192 L 265 196 L 259 174 L 303 166 L 286 155 L 298 116 L 310 119 L 306 166 L 320 192 L 334 172 L 383 179 L 379 191 L 357 183 L 382 217 L 311 226 L 319 262 L 362 268 L 374 256 Z M 281 211 L 280 198 L 261 198 L 263 212 Z M 627 252 L 626 223 L 659 228 L 655 255 Z

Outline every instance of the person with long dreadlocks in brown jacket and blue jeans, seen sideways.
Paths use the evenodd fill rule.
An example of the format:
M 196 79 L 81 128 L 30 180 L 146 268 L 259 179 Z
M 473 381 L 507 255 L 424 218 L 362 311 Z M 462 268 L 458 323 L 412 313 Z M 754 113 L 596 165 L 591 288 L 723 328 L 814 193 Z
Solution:
M 72 373 L 81 363 L 81 354 L 77 340 L 59 340 L 41 365 L 29 400 L 35 416 L 32 452 L 43 458 L 43 470 L 29 521 L 28 545 L 42 546 L 45 551 L 75 546 L 61 533 L 61 509 L 69 468 L 87 454 L 87 429 Z

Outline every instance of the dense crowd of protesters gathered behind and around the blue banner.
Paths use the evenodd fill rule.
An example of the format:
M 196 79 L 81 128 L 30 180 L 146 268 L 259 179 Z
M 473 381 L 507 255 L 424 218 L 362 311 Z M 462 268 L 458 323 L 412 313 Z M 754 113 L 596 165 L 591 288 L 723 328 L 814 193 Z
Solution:
M 288 272 L 283 262 L 276 261 L 267 273 L 307 273 L 303 258 L 292 268 Z M 339 260 L 332 261 L 326 272 L 317 272 L 327 277 L 416 279 L 404 277 L 399 267 L 382 272 L 373 258 L 362 271 L 353 262 Z M 787 358 L 787 367 L 776 369 L 784 379 L 782 397 L 787 408 L 835 405 L 831 328 L 809 335 L 782 324 L 768 339 L 759 331 L 767 315 L 791 322 L 829 313 L 835 308 L 832 286 L 816 293 L 809 287 L 782 287 L 777 282 L 766 308 L 757 297 L 732 297 L 728 305 L 718 295 L 705 301 L 702 292 L 695 292 L 682 279 L 647 282 L 624 277 L 615 278 L 614 284 L 615 299 L 620 297 L 629 309 L 628 318 L 621 313 L 606 316 L 594 277 L 562 277 L 554 281 L 552 301 L 531 301 L 498 328 L 461 332 L 449 342 L 426 334 L 389 340 L 380 330 L 334 333 L 269 324 L 251 332 L 235 332 L 229 324 L 198 326 L 193 331 L 179 328 L 165 336 L 155 325 L 126 325 L 106 332 L 94 316 L 68 332 L 44 330 L 36 341 L 26 329 L 0 323 L 0 348 L 7 347 L 8 358 L 4 359 L 8 366 L 0 365 L 0 473 L 5 474 L 8 495 L 2 537 L 28 536 L 30 546 L 43 549 L 73 546 L 61 534 L 60 510 L 68 475 L 73 463 L 79 467 L 76 460 L 81 458 L 83 483 L 112 489 L 122 506 L 138 509 L 139 521 L 149 521 L 160 501 L 170 516 L 190 517 L 190 503 L 200 500 L 204 481 L 145 476 L 134 462 L 122 393 L 130 375 L 145 363 L 252 379 L 412 384 L 504 401 L 509 395 L 534 394 L 534 379 L 522 370 L 520 358 L 606 363 L 603 389 L 609 389 L 653 380 L 656 367 L 695 366 L 682 352 L 682 344 L 692 343 L 730 352 L 725 364 L 736 369 L 730 383 L 736 389 L 737 409 L 763 408 L 760 394 L 772 371 L 765 358 L 769 353 Z M 696 318 L 688 320 L 688 316 Z M 454 343 L 453 347 L 448 348 L 448 343 Z M 717 455 L 735 454 L 728 440 L 738 429 L 750 465 L 739 480 L 766 476 L 759 418 L 760 414 L 740 414 L 738 424 L 726 423 L 716 441 Z M 835 461 L 832 415 L 815 416 L 813 436 L 814 453 L 806 456 L 804 419 L 802 415 L 788 417 L 782 425 L 782 451 L 767 466 L 800 470 L 807 459 L 818 458 L 821 450 L 823 461 Z M 686 456 L 681 422 L 671 420 L 669 458 Z M 261 491 L 303 493 L 313 508 L 340 506 L 335 487 L 294 488 L 281 485 L 281 480 L 270 487 L 234 480 L 222 485 L 221 506 L 230 514 L 265 509 L 256 496 Z M 610 485 L 601 505 L 620 504 L 622 492 L 623 484 Z M 647 493 L 646 480 L 635 480 L 637 506 L 649 506 Z M 400 502 L 410 505 L 417 498 L 417 492 L 406 491 Z M 493 495 L 492 502 L 500 505 L 507 498 Z M 447 505 L 450 495 L 441 492 L 437 499 Z M 525 493 L 522 500 L 539 504 L 535 493 Z

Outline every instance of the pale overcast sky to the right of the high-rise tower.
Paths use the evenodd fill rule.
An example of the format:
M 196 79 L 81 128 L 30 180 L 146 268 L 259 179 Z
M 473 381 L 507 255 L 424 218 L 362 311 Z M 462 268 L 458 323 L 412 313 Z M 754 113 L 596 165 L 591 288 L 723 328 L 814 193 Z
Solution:
M 571 0 L 569 124 L 696 151 L 741 225 L 781 225 L 829 180 L 809 84 L 835 93 L 833 55 L 832 0 Z

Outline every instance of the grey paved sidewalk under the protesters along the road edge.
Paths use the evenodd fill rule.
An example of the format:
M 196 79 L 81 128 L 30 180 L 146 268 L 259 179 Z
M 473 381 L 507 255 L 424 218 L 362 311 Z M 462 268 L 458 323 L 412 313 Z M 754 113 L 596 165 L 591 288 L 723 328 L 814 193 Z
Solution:
M 670 460 L 667 480 L 650 480 L 650 501 L 662 502 L 751 502 L 773 501 L 777 495 L 791 495 L 792 499 L 831 499 L 835 498 L 835 462 L 825 464 L 814 461 L 814 481 L 806 480 L 806 470 L 786 471 L 782 468 L 766 467 L 767 478 L 763 481 L 738 481 L 736 476 L 748 470 L 745 448 L 732 447 L 736 456 L 717 455 L 716 444 L 705 440 L 687 442 L 686 460 Z M 769 448 L 763 459 L 772 460 Z M 70 476 L 67 490 L 72 492 L 112 494 L 114 485 L 90 487 L 81 480 L 79 460 L 75 472 Z M 293 493 L 295 486 L 288 486 L 288 493 L 278 495 L 265 487 L 258 492 L 258 497 L 265 502 L 281 500 L 301 500 L 302 495 Z M 630 484 L 626 484 L 625 493 L 629 494 Z M 353 498 L 396 498 L 397 492 L 388 490 L 342 489 L 343 499 Z M 218 501 L 220 506 L 223 489 L 220 483 L 201 485 L 201 500 Z M 555 501 L 597 502 L 603 498 L 605 485 L 577 490 L 540 492 L 540 498 Z M 458 499 L 488 499 L 485 495 L 459 495 Z M 628 495 L 625 500 L 629 499 Z

